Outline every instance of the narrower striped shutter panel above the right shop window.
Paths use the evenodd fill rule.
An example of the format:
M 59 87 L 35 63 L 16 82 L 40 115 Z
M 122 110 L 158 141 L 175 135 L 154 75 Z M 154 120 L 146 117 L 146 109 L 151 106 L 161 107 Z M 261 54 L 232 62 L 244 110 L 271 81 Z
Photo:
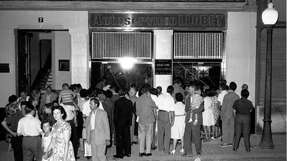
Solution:
M 222 59 L 222 33 L 174 33 L 174 59 Z

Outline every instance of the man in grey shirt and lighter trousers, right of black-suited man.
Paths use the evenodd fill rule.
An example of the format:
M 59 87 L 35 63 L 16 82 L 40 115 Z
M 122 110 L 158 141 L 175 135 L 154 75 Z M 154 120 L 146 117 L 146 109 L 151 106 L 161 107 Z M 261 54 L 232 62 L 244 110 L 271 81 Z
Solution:
M 138 138 L 139 156 L 151 156 L 151 144 L 154 130 L 153 109 L 156 108 L 154 101 L 148 97 L 148 88 L 142 87 L 143 94 L 137 99 L 136 114 L 139 117 Z M 156 112 L 155 112 L 156 113 Z M 146 153 L 145 153 L 146 147 Z

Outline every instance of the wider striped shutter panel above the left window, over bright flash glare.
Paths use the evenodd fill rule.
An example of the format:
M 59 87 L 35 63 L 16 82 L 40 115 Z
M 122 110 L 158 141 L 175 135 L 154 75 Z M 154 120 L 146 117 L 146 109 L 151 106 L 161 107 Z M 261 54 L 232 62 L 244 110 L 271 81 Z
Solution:
M 92 32 L 92 59 L 152 59 L 151 32 Z

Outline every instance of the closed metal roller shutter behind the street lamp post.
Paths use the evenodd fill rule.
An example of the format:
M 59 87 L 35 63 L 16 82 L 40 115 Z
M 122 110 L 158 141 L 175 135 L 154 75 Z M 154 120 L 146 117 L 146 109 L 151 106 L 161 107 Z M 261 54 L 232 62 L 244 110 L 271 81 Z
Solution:
M 265 99 L 265 67 L 267 32 L 262 30 L 260 45 L 259 105 Z M 272 35 L 272 105 L 286 105 L 286 28 L 274 28 Z

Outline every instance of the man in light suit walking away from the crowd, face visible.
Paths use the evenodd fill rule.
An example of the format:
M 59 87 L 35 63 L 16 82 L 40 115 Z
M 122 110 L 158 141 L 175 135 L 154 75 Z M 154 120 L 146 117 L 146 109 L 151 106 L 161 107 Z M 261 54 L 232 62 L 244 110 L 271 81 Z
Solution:
M 99 109 L 98 99 L 90 100 L 91 112 L 86 119 L 86 131 L 88 144 L 92 148 L 92 160 L 107 160 L 105 151 L 106 146 L 110 145 L 110 127 L 107 113 Z

